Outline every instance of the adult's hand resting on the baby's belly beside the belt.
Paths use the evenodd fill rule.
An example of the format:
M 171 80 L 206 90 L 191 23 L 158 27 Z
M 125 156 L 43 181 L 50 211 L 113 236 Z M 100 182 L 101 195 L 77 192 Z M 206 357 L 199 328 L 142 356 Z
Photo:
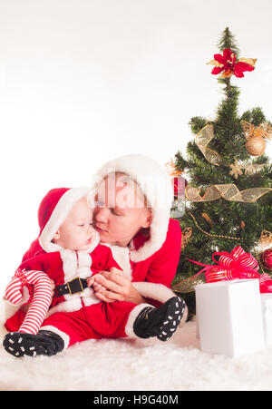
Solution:
M 89 285 L 90 283 L 90 285 Z M 118 268 L 111 268 L 111 271 L 101 271 L 88 281 L 88 286 L 95 292 L 95 296 L 101 301 L 111 303 L 113 301 L 129 301 L 141 304 L 144 299 L 135 287 L 131 284 L 130 278 Z

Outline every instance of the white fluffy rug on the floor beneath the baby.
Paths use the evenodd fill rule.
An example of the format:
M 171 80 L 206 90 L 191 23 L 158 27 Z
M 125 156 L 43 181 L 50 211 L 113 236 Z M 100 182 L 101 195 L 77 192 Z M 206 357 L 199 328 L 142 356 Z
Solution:
M 166 343 L 90 340 L 51 357 L 17 359 L 1 340 L 0 390 L 272 390 L 272 347 L 239 358 L 204 354 L 194 322 Z

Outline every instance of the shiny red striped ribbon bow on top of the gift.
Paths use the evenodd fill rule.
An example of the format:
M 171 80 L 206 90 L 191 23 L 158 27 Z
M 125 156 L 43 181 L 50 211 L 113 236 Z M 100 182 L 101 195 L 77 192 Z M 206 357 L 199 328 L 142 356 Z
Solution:
M 215 259 L 215 256 L 220 256 L 219 261 Z M 268 274 L 259 274 L 257 272 L 259 268 L 257 260 L 251 256 L 251 254 L 246 253 L 240 246 L 233 248 L 230 254 L 227 251 L 213 253 L 212 259 L 218 263 L 219 266 L 209 266 L 209 264 L 189 260 L 199 266 L 204 266 L 192 279 L 199 276 L 203 271 L 205 271 L 207 283 L 237 278 L 258 278 L 260 292 L 272 292 L 272 279 Z

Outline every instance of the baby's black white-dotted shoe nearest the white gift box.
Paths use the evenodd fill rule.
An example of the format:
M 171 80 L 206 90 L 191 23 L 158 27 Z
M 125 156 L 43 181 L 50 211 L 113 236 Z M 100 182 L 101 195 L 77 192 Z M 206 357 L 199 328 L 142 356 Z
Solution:
M 160 307 L 145 307 L 134 321 L 133 330 L 140 338 L 157 336 L 160 341 L 168 341 L 180 325 L 185 311 L 185 302 L 180 297 L 172 297 Z

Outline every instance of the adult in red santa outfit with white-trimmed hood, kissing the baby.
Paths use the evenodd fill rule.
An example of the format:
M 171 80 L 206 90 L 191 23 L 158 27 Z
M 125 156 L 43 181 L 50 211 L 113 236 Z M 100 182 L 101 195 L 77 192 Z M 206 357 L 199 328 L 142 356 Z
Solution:
M 143 200 L 139 192 L 137 203 L 125 196 L 126 177 L 137 183 Z M 152 298 L 155 306 L 165 302 L 173 296 L 170 284 L 181 241 L 180 223 L 170 219 L 173 193 L 167 175 L 151 158 L 126 155 L 105 163 L 94 176 L 94 185 L 95 229 L 101 242 L 112 248 L 113 258 L 123 271 L 129 271 L 129 275 L 101 272 L 97 282 L 102 287 L 94 287 L 96 296 L 106 302 L 140 304 L 146 297 L 149 301 Z

